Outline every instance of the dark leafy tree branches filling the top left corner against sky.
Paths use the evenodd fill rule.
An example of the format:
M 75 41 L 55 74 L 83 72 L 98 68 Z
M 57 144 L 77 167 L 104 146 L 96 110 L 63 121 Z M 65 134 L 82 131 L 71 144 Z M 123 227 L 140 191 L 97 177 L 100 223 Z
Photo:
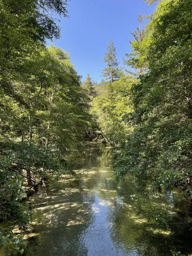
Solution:
M 22 75 L 25 60 L 45 48 L 47 38 L 58 38 L 60 30 L 51 11 L 67 16 L 67 1 L 0 1 L 0 86 L 18 100 L 11 82 Z M 54 15 L 55 16 L 55 15 Z

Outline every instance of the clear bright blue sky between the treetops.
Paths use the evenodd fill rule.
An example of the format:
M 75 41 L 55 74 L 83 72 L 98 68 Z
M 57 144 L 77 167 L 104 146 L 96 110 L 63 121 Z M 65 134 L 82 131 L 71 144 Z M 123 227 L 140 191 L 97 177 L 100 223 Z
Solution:
M 70 53 L 82 80 L 89 73 L 94 81 L 100 82 L 110 38 L 123 66 L 122 58 L 131 51 L 127 41 L 132 38 L 130 30 L 138 26 L 137 15 L 149 15 L 154 9 L 142 0 L 71 0 L 70 17 L 61 19 L 61 38 L 53 44 Z

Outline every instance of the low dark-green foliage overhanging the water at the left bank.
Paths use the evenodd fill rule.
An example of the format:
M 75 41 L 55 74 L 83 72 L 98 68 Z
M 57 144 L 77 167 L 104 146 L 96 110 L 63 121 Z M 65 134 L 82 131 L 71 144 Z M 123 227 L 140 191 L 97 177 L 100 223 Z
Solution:
M 28 209 L 23 205 L 26 197 L 24 182 L 30 178 L 28 173 L 31 181 L 37 183 L 38 179 L 63 172 L 65 167 L 60 163 L 58 153 L 45 146 L 27 142 L 4 142 L 0 146 L 0 219 L 25 226 L 29 221 Z

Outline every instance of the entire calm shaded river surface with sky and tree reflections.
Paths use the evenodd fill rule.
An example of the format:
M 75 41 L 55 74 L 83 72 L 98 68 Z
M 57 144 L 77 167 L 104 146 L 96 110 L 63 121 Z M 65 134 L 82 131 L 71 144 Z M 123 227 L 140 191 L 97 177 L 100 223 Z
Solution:
M 138 188 L 131 178 L 115 181 L 112 161 L 109 147 L 88 143 L 74 168 L 78 178 L 66 176 L 61 181 L 65 189 L 42 190 L 32 198 L 34 236 L 28 243 L 28 256 L 191 252 L 191 231 L 179 224 L 181 218 L 174 210 L 180 204 L 186 215 L 188 204 L 170 193 L 167 205 L 164 195 Z M 164 223 L 169 217 L 171 224 Z

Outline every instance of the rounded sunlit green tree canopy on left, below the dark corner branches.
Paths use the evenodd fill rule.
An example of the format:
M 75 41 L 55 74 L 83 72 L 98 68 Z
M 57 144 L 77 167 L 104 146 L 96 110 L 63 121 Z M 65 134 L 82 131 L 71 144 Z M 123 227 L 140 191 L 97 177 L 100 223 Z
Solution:
M 0 99 L 2 136 L 47 146 L 51 143 L 63 153 L 82 140 L 81 131 L 88 122 L 88 99 L 67 53 L 51 46 L 27 58 L 12 90 L 17 98 L 5 95 Z M 65 143 L 61 143 L 62 138 L 66 138 Z

